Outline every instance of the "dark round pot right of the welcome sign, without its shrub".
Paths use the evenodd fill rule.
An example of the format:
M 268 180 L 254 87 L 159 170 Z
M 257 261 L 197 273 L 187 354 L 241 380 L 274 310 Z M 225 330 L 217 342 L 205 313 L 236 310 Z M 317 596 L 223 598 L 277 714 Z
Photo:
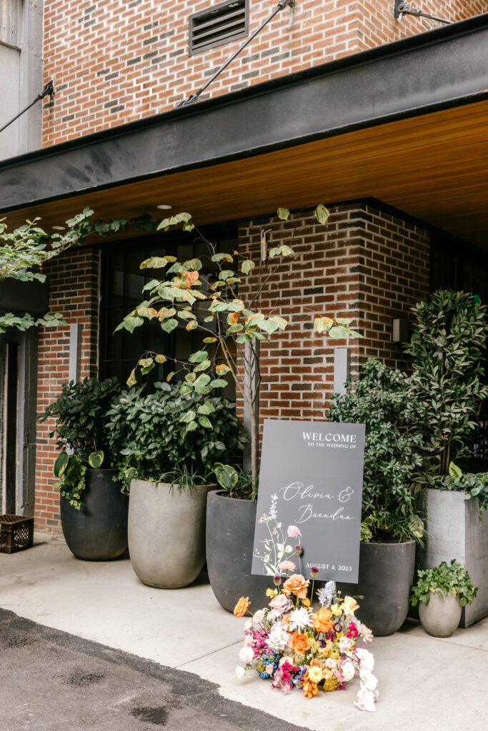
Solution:
M 358 618 L 373 635 L 393 635 L 405 622 L 415 569 L 415 541 L 361 543 L 359 583 L 337 583 L 342 596 L 354 596 Z

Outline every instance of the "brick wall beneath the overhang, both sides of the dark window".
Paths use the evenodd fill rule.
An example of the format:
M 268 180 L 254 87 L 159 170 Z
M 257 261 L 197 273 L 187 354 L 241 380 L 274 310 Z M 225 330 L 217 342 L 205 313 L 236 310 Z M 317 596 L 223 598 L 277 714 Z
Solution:
M 391 320 L 408 317 L 429 282 L 429 234 L 373 205 L 350 203 L 331 208 L 326 227 L 312 213 L 290 221 L 259 219 L 239 226 L 239 248 L 258 257 L 260 231 L 271 229 L 269 246 L 288 243 L 296 257 L 266 281 L 260 308 L 289 321 L 271 344 L 261 345 L 263 383 L 261 420 L 322 419 L 332 393 L 334 345 L 315 335 L 315 314 L 353 317 L 364 340 L 351 340 L 351 372 L 371 355 L 388 365 L 404 365 L 401 347 L 391 342 Z M 61 311 L 70 325 L 83 324 L 81 378 L 97 376 L 100 254 L 79 249 L 50 263 L 50 308 Z M 249 275 L 239 293 L 255 292 L 269 269 Z M 69 327 L 40 333 L 37 410 L 42 412 L 67 382 Z M 239 412 L 242 414 L 241 405 Z M 46 422 L 38 428 L 36 474 L 37 528 L 59 529 L 59 492 L 53 488 L 56 447 Z

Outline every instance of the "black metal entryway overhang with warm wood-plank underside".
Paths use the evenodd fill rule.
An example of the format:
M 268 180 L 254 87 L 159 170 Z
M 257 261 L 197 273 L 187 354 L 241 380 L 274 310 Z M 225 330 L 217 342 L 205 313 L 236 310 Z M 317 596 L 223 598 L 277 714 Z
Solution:
M 1 216 L 198 223 L 374 197 L 488 234 L 488 14 L 0 162 Z M 56 103 L 56 102 L 55 102 Z

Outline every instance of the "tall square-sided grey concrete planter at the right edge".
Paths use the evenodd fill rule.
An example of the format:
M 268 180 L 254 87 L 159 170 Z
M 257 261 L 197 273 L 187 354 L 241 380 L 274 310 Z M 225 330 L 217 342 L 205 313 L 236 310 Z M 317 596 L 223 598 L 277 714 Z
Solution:
M 427 531 L 424 568 L 455 558 L 478 587 L 473 603 L 462 607 L 459 626 L 468 627 L 488 614 L 488 515 L 479 519 L 476 498 L 465 500 L 465 493 L 429 488 Z

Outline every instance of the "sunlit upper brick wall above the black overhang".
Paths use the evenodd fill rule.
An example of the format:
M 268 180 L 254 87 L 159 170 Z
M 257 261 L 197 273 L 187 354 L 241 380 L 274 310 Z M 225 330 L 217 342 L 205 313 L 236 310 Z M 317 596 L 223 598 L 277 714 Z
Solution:
M 45 0 L 44 146 L 174 107 L 208 80 L 244 39 L 188 55 L 188 18 L 211 0 Z M 414 3 L 415 4 L 415 3 Z M 488 11 L 488 0 L 422 0 L 452 20 Z M 249 0 L 249 33 L 277 6 Z M 392 0 L 297 0 L 285 8 L 211 85 L 218 96 L 358 50 L 416 34 L 438 23 L 393 16 Z M 200 99 L 205 98 L 202 95 Z

